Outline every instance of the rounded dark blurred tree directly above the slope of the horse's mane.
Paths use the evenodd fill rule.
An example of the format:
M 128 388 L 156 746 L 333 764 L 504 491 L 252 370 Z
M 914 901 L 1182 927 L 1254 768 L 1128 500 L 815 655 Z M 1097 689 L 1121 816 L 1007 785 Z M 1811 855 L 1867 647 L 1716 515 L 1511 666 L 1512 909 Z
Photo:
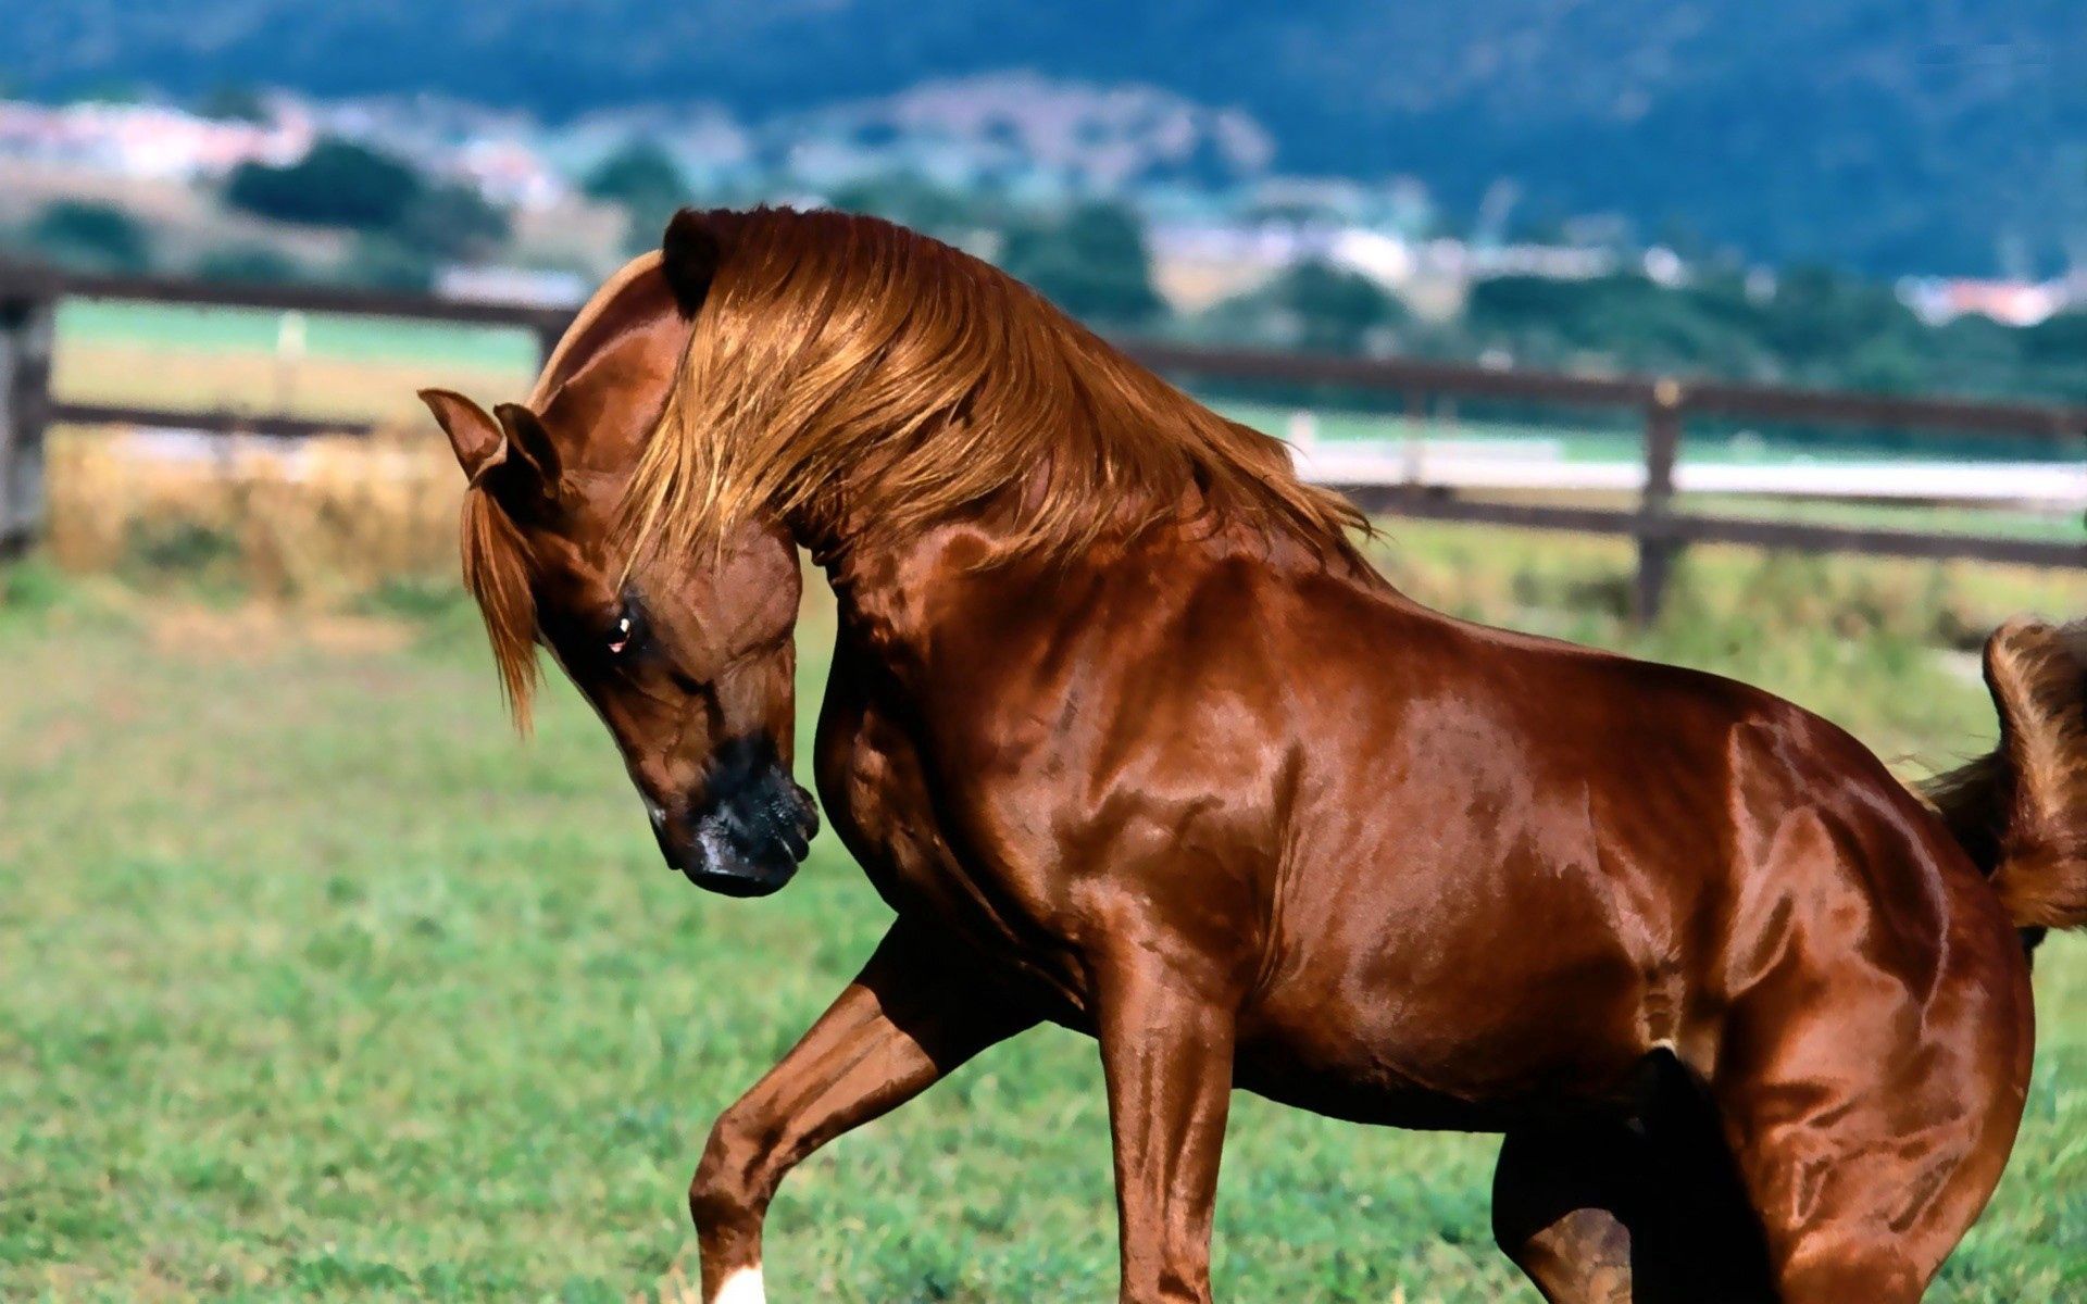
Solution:
M 1092 323 L 1142 325 L 1162 307 L 1144 227 L 1121 204 L 1092 202 L 1056 221 L 1014 221 L 1000 265 Z

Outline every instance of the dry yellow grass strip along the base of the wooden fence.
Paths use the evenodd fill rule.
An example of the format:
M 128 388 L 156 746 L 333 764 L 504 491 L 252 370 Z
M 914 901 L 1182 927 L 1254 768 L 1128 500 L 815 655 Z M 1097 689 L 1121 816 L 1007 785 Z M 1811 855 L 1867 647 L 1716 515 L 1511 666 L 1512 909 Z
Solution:
M 371 386 L 376 392 L 378 386 Z M 499 386 L 478 392 L 497 394 Z M 48 551 L 73 572 L 209 572 L 248 597 L 338 605 L 394 578 L 451 582 L 463 478 L 417 411 L 371 438 L 196 442 L 169 455 L 113 430 L 54 432 Z M 1599 638 L 1628 609 L 1626 540 L 1392 520 L 1375 559 L 1465 615 Z M 2077 618 L 2077 574 L 1970 561 L 1690 549 L 1672 618 L 1841 638 L 1976 647 L 2018 611 Z

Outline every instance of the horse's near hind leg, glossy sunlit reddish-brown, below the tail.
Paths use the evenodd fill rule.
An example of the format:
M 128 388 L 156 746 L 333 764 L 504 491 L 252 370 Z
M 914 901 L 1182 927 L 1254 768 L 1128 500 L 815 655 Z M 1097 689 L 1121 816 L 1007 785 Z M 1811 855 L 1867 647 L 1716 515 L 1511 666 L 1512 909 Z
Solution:
M 1732 1008 L 1711 1093 L 1786 1304 L 1920 1298 L 1999 1183 L 2029 1045 L 1999 926 L 1924 974 L 1814 951 Z

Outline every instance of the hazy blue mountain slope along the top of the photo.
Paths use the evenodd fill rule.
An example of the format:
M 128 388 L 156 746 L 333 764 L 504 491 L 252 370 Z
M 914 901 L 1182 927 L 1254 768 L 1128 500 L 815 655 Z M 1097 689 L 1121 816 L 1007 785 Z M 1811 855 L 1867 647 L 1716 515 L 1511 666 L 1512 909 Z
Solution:
M 1874 271 L 2087 259 L 2081 0 L 10 0 L 31 94 L 442 90 L 772 115 L 1029 69 L 1238 108 L 1290 171 Z M 2068 248 L 2068 242 L 2074 248 Z

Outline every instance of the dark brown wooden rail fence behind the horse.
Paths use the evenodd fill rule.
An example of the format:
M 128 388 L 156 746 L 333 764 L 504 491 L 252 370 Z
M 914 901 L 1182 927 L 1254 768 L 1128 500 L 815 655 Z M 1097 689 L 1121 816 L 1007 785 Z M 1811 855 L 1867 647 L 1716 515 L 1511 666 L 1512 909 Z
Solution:
M 520 328 L 534 334 L 543 355 L 549 355 L 570 321 L 570 311 L 532 305 L 463 303 L 311 286 L 81 277 L 0 265 L 0 542 L 15 547 L 31 538 L 40 524 L 42 440 L 54 424 L 169 426 L 278 438 L 363 426 L 292 413 L 161 411 L 54 399 L 50 392 L 52 321 L 63 298 L 349 313 Z M 1396 394 L 1413 415 L 1423 415 L 1432 401 L 1455 403 L 1459 399 L 1517 403 L 1546 411 L 1578 409 L 1630 415 L 1645 432 L 1645 474 L 1634 503 L 1628 507 L 1467 497 L 1425 482 L 1394 480 L 1338 482 L 1334 488 L 1350 494 L 1373 513 L 1628 536 L 1636 540 L 1638 549 L 1636 605 L 1645 618 L 1657 613 L 1674 557 L 1690 542 L 2087 568 L 2087 542 L 1703 515 L 1680 511 L 1674 494 L 1674 463 L 1690 419 L 2010 436 L 2049 444 L 2054 453 L 2060 453 L 2087 446 L 2087 407 L 1853 394 L 1718 380 L 1563 376 L 1417 359 L 1300 357 L 1140 340 L 1125 340 L 1123 346 L 1146 365 L 1185 384 L 1277 384 Z

